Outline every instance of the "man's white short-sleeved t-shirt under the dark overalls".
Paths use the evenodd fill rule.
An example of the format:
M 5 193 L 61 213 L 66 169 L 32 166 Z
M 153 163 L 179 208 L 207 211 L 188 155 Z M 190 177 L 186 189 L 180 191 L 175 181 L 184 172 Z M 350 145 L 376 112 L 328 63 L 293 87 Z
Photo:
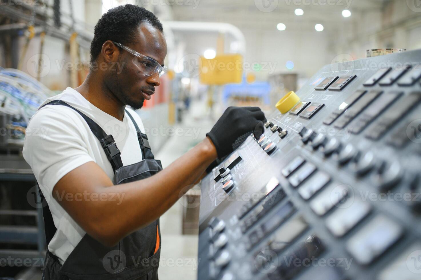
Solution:
M 43 104 L 52 100 L 65 101 L 94 120 L 107 134 L 112 134 L 120 149 L 123 165 L 142 160 L 136 128 L 127 114 L 123 121 L 117 120 L 93 106 L 73 88 L 66 88 Z M 144 133 L 139 115 L 132 109 L 128 111 Z M 23 156 L 35 174 L 57 228 L 48 244 L 48 250 L 59 257 L 63 264 L 85 235 L 85 231 L 51 197 L 54 186 L 64 175 L 89 161 L 97 163 L 112 181 L 114 172 L 99 140 L 83 117 L 75 110 L 61 105 L 47 105 L 31 118 L 26 131 Z

